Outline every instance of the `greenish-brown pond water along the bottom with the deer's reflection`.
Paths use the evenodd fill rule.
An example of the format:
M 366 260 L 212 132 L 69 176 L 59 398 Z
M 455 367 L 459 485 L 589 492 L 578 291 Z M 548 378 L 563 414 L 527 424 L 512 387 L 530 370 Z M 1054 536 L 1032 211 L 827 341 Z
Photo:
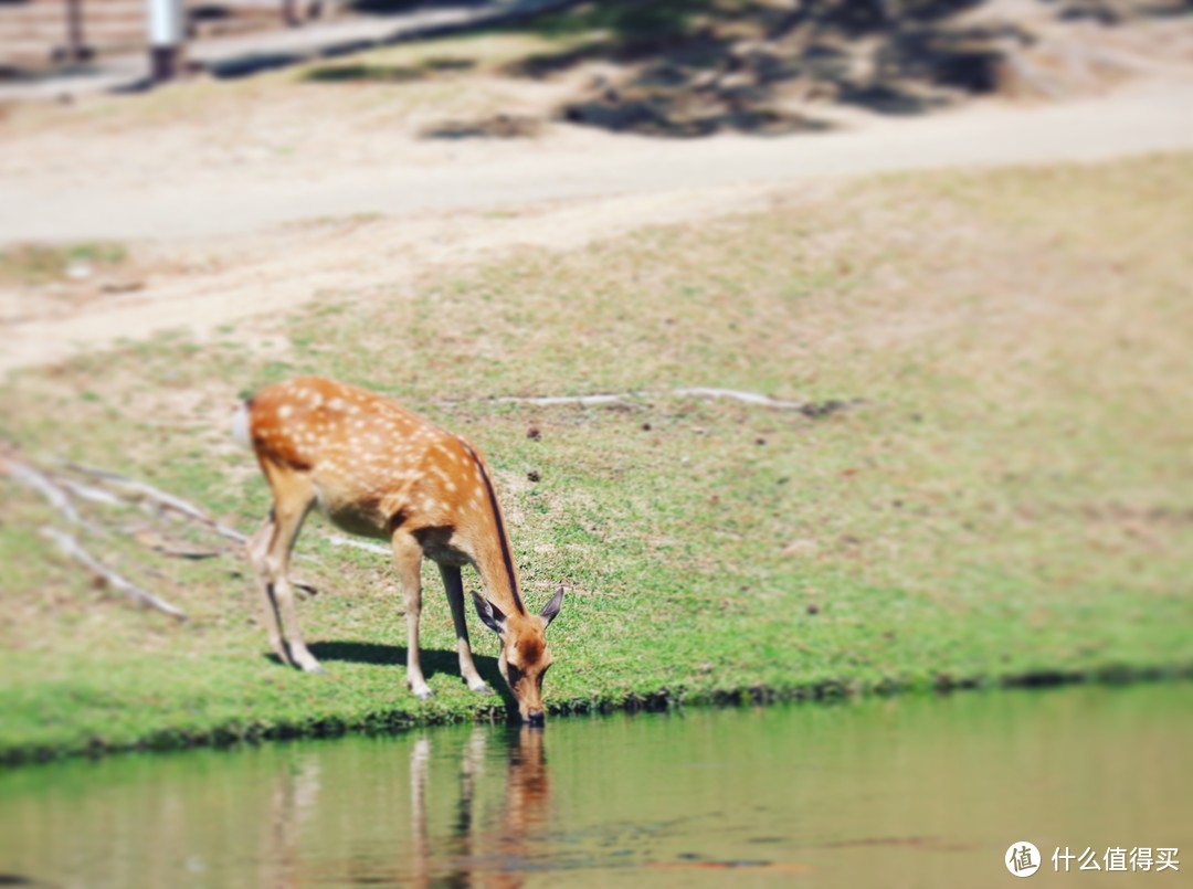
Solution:
M 0 774 L 0 884 L 1177 885 L 1193 684 L 554 720 Z M 1180 871 L 1055 873 L 1174 847 Z M 1061 862 L 1063 866 L 1063 862 Z

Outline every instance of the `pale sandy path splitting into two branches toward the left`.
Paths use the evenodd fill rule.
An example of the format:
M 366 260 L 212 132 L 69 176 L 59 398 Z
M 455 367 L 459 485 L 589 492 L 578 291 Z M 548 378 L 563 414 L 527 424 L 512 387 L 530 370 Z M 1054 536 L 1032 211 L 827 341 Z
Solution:
M 570 247 L 637 226 L 735 212 L 834 177 L 977 165 L 1098 160 L 1193 147 L 1193 82 L 1033 109 L 995 104 L 853 131 L 698 142 L 550 140 L 497 160 L 336 169 L 319 178 L 118 185 L 0 180 L 0 243 L 54 239 L 239 245 L 227 271 L 161 280 L 68 317 L 8 325 L 0 372 L 171 327 L 199 333 L 292 307 L 328 289 L 413 283 L 429 268 L 518 245 Z M 599 150 L 594 150 L 599 146 Z M 501 210 L 500 217 L 494 210 Z M 296 220 L 383 214 L 333 230 Z M 512 216 L 508 214 L 513 214 Z M 248 245 L 248 246 L 246 246 Z M 193 245 L 192 245 L 193 246 Z

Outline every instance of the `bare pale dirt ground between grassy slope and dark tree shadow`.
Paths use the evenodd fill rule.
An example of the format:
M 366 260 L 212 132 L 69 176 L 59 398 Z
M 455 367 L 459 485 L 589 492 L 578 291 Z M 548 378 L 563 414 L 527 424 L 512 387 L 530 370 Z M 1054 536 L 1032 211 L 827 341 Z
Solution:
M 815 134 L 675 140 L 549 119 L 527 137 L 420 135 L 453 113 L 546 119 L 592 66 L 514 80 L 481 64 L 401 93 L 290 73 L 0 109 L 0 372 L 162 329 L 203 335 L 328 290 L 414 289 L 527 245 L 822 196 L 845 177 L 1189 148 L 1188 25 L 1149 25 L 1154 44 L 1138 45 L 1168 49 L 1096 88 L 916 115 L 821 105 L 832 129 Z M 468 51 L 532 49 L 499 36 Z M 17 267 L 30 243 L 56 245 L 60 273 Z

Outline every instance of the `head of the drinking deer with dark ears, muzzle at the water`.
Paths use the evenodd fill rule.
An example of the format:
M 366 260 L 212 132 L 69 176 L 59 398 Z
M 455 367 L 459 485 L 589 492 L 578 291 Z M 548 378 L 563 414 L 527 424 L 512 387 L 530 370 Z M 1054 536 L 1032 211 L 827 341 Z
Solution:
M 546 628 L 563 607 L 563 587 L 543 610 L 532 615 L 506 615 L 480 593 L 472 593 L 476 613 L 501 640 L 497 668 L 518 700 L 518 714 L 531 726 L 543 724 L 543 675 L 551 666 Z

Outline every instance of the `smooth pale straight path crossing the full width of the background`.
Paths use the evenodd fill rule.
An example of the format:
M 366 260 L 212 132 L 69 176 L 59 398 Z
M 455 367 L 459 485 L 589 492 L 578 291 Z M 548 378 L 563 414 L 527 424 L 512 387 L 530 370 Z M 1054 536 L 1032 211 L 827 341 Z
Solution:
M 497 161 L 346 167 L 316 179 L 204 178 L 130 193 L 126 187 L 2 183 L 0 243 L 17 240 L 210 237 L 283 222 L 377 212 L 515 209 L 544 200 L 692 186 L 965 165 L 1094 160 L 1193 144 L 1193 84 L 1136 87 L 1036 109 L 975 105 L 952 113 L 870 122 L 817 136 L 700 141 L 607 137 L 560 150 L 527 148 Z

